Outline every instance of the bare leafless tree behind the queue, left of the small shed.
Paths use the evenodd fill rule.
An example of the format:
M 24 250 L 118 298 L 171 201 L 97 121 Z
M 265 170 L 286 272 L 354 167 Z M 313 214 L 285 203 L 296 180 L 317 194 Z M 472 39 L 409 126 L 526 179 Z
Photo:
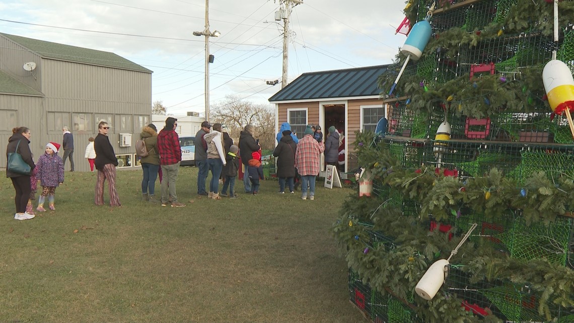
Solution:
M 227 132 L 234 143 L 239 142 L 241 130 L 247 124 L 252 124 L 256 129 L 254 137 L 259 139 L 262 149 L 273 149 L 275 145 L 275 113 L 268 105 L 228 95 L 214 106 L 212 120 L 227 126 Z

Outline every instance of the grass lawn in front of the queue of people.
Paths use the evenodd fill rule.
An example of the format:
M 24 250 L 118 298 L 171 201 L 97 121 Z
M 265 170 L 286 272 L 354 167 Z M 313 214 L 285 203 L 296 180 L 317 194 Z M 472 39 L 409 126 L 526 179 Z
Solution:
M 94 205 L 95 173 L 66 172 L 56 210 L 26 221 L 0 180 L 0 321 L 364 322 L 331 234 L 350 189 L 321 182 L 303 201 L 277 180 L 255 196 L 238 181 L 240 198 L 214 201 L 196 178 L 181 167 L 188 206 L 161 207 L 141 201 L 141 171 L 119 171 L 111 208 Z

